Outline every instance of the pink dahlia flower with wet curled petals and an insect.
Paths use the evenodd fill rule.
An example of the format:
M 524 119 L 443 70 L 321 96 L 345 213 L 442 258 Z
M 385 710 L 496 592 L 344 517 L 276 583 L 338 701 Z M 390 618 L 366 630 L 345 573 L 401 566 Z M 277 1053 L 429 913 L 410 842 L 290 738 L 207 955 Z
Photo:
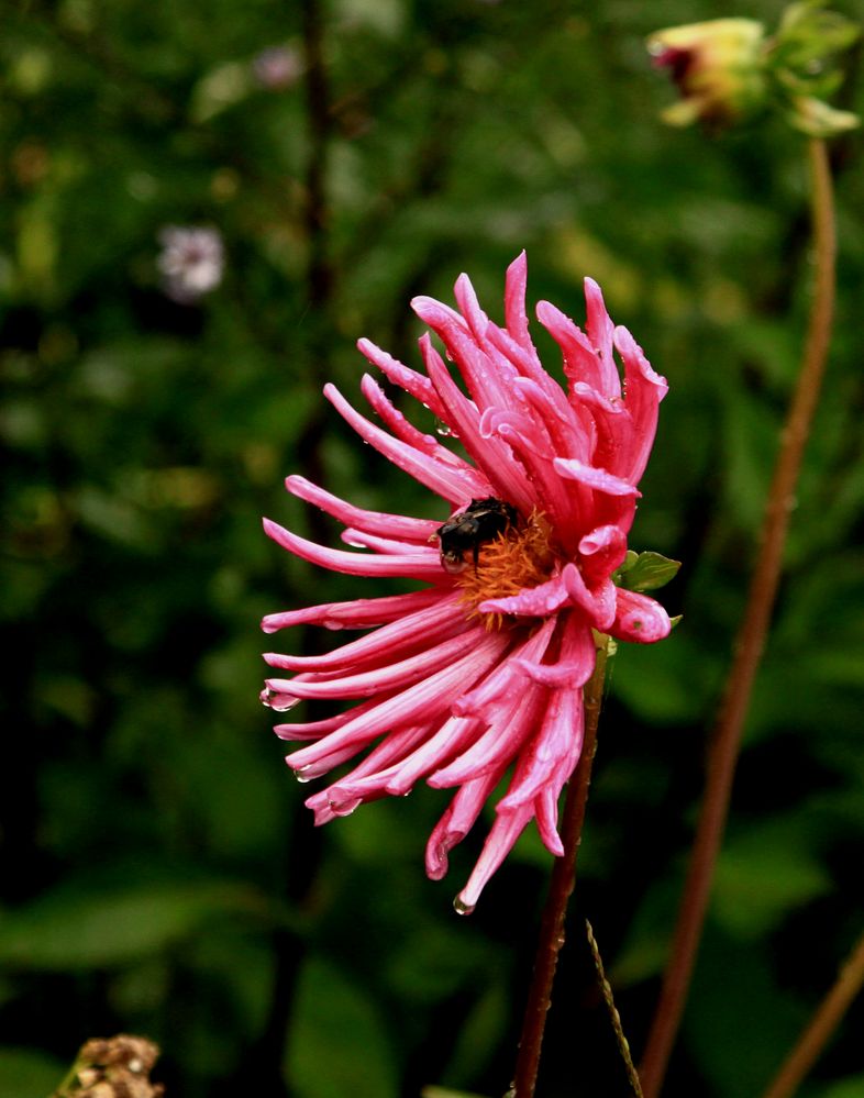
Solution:
M 465 275 L 455 288 L 458 312 L 414 299 L 452 366 L 429 334 L 420 340 L 423 373 L 367 340 L 358 344 L 458 437 L 467 459 L 413 426 L 369 375 L 361 389 L 384 426 L 334 386 L 324 389 L 364 441 L 441 498 L 437 518 L 367 511 L 292 476 L 288 490 L 344 523 L 343 540 L 365 552 L 325 548 L 264 523 L 284 548 L 325 568 L 423 585 L 266 617 L 268 633 L 309 622 L 370 631 L 322 656 L 268 653 L 272 667 L 295 674 L 269 679 L 262 700 L 277 711 L 303 698 L 356 700 L 337 717 L 275 730 L 304 743 L 287 758 L 303 781 L 369 748 L 307 800 L 319 824 L 364 801 L 405 795 L 420 779 L 456 790 L 427 847 L 434 879 L 509 772 L 495 823 L 456 898 L 463 912 L 529 821 L 553 854 L 563 853 L 557 806 L 581 750 L 592 630 L 643 643 L 669 631 L 657 602 L 613 581 L 666 382 L 627 329 L 614 328 L 600 288 L 586 279 L 585 332 L 546 301 L 536 310 L 562 351 L 562 389 L 529 335 L 525 269 L 521 255 L 507 273 L 503 328 L 481 311 Z

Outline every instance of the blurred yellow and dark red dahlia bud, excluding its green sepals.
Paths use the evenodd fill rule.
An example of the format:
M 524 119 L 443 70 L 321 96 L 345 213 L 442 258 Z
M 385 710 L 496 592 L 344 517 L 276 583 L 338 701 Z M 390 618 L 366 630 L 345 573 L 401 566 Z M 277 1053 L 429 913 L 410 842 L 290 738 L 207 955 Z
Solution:
M 658 67 L 668 67 L 682 93 L 663 112 L 671 125 L 728 125 L 765 103 L 765 27 L 752 19 L 713 19 L 657 31 L 647 40 Z

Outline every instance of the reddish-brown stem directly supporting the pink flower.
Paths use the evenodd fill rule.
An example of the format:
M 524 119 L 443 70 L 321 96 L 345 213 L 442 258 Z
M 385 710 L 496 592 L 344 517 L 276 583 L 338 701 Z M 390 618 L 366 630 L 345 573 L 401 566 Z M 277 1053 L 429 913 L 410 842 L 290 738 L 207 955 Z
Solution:
M 540 941 L 534 958 L 534 972 L 531 977 L 531 987 L 522 1021 L 516 1072 L 512 1085 L 507 1093 L 508 1098 L 532 1098 L 536 1086 L 543 1030 L 549 1008 L 552 1005 L 552 984 L 555 979 L 558 953 L 564 945 L 567 901 L 576 880 L 576 856 L 581 840 L 588 787 L 591 783 L 591 764 L 597 748 L 597 723 L 600 719 L 607 658 L 607 648 L 598 648 L 594 675 L 585 687 L 585 739 L 583 740 L 579 764 L 567 789 L 567 800 L 561 827 L 564 854 L 555 859 L 552 868 L 549 897 L 540 923 Z

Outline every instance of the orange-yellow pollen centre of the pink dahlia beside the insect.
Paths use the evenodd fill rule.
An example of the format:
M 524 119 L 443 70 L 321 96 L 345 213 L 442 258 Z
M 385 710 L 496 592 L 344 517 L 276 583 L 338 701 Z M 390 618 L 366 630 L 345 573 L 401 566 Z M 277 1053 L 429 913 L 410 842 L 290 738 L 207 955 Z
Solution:
M 560 555 L 553 548 L 551 534 L 545 517 L 533 511 L 527 522 L 480 545 L 477 567 L 469 564 L 456 577 L 463 590 L 459 601 L 469 618 L 483 617 L 488 630 L 501 629 L 503 614 L 480 614 L 477 607 L 486 599 L 506 599 L 544 584 Z

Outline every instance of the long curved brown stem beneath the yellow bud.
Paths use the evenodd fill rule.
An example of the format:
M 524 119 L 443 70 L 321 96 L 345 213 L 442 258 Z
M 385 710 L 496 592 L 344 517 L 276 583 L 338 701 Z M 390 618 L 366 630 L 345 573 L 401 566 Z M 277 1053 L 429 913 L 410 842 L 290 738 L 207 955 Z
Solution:
M 656 1098 L 660 1093 L 684 1011 L 708 907 L 715 863 L 725 825 L 741 732 L 779 583 L 795 487 L 828 357 L 834 306 L 837 245 L 831 173 L 828 151 L 822 141 L 811 138 L 809 159 L 816 282 L 807 343 L 798 385 L 783 430 L 747 606 L 735 639 L 732 667 L 710 741 L 702 809 L 690 854 L 672 955 L 640 1069 L 645 1098 Z

